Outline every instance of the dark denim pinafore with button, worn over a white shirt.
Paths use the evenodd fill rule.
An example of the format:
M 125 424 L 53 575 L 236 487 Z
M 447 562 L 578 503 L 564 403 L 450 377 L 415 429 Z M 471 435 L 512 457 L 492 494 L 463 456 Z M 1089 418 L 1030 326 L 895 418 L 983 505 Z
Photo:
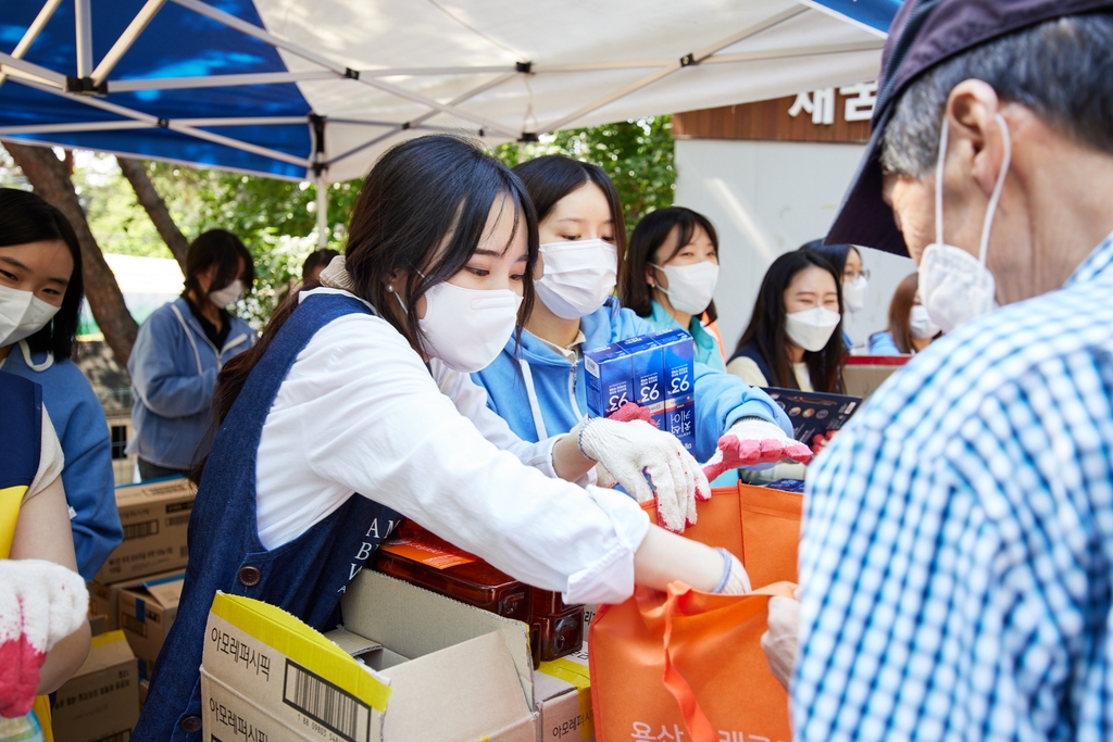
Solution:
M 263 424 L 297 354 L 318 329 L 345 315 L 372 314 L 337 294 L 306 298 L 252 369 L 217 432 L 189 518 L 189 565 L 178 615 L 155 662 L 132 742 L 197 742 L 200 664 L 216 592 L 246 595 L 318 631 L 341 623 L 339 601 L 401 516 L 355 494 L 324 521 L 278 548 L 259 542 L 255 469 Z

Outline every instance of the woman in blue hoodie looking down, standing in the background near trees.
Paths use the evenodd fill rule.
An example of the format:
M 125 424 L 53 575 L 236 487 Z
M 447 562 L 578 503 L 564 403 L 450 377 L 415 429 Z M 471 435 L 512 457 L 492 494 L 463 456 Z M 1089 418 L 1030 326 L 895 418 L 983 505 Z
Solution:
M 198 451 L 211 422 L 216 377 L 235 355 L 255 345 L 255 330 L 227 308 L 255 279 L 252 255 L 224 229 L 199 236 L 186 253 L 186 289 L 156 309 L 139 328 L 128 373 L 144 481 L 186 474 L 207 453 Z

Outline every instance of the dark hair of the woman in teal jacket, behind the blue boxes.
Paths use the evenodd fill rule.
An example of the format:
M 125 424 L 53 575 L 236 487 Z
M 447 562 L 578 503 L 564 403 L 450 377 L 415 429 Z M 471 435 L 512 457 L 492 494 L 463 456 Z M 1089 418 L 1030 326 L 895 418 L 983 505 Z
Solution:
M 672 255 L 656 260 L 653 256 L 669 239 L 673 229 L 679 229 L 679 240 L 672 248 Z M 707 233 L 708 239 L 715 246 L 715 254 L 718 256 L 719 235 L 715 231 L 711 220 L 699 211 L 683 206 L 670 206 L 650 211 L 642 217 L 638 226 L 634 227 L 633 235 L 630 236 L 630 248 L 627 250 L 626 258 L 626 276 L 619 284 L 619 299 L 622 301 L 622 306 L 630 307 L 642 317 L 653 314 L 653 287 L 646 280 L 646 269 L 650 267 L 650 263 L 663 266 L 674 258 L 677 253 L 692 241 L 697 229 Z M 719 318 L 713 300 L 705 311 L 710 321 Z

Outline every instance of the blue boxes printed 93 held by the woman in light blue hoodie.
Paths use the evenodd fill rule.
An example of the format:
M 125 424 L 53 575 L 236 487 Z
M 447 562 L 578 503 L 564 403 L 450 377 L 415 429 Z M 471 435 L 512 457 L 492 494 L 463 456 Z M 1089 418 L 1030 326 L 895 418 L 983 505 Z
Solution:
M 696 366 L 691 335 L 663 329 L 583 354 L 588 407 L 608 417 L 631 402 L 647 407 L 653 425 L 696 445 Z

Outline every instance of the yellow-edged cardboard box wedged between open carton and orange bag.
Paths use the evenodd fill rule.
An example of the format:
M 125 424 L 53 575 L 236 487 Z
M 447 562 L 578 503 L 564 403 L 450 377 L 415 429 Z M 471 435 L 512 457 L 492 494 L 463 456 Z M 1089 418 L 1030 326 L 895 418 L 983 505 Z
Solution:
M 542 662 L 533 673 L 533 694 L 541 712 L 538 742 L 594 741 L 587 643 L 574 654 Z

